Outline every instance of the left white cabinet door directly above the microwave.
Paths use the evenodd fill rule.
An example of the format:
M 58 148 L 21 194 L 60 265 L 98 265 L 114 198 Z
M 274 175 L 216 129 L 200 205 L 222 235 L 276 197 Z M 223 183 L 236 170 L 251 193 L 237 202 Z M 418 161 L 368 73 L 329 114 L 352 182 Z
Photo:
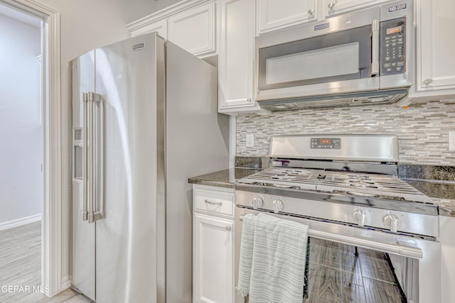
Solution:
M 316 0 L 257 0 L 257 34 L 316 20 Z

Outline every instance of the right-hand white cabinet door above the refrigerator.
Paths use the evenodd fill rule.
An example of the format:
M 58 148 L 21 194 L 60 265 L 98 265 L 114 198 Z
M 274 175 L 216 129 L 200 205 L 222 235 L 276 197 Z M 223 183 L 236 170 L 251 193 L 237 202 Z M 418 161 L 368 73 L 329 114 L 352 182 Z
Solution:
M 168 18 L 168 39 L 197 56 L 215 55 L 215 2 Z

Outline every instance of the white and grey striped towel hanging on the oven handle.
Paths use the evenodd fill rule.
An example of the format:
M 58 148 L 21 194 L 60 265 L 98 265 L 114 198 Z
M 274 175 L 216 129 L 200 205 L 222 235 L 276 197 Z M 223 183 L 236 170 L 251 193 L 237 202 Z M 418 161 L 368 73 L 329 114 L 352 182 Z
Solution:
M 247 238 L 244 241 L 245 218 Z M 239 264 L 242 275 L 239 274 L 237 290 L 245 296 L 249 294 L 250 303 L 301 303 L 308 226 L 267 214 L 259 214 L 256 220 L 247 215 L 243 224 Z M 255 228 L 251 235 L 252 224 Z

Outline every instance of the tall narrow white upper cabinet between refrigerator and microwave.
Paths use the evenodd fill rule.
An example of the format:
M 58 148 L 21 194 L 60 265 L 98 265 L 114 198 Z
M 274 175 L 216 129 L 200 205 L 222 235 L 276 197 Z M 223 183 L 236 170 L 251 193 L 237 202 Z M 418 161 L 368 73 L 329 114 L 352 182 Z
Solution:
M 255 1 L 222 0 L 218 54 L 218 111 L 260 111 L 253 97 Z

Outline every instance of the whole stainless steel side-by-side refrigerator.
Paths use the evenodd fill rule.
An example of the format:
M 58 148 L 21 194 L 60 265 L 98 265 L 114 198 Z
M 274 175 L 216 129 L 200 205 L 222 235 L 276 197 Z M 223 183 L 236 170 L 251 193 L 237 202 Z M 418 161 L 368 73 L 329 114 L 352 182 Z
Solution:
M 188 177 L 228 167 L 215 67 L 146 34 L 70 62 L 73 287 L 98 303 L 191 302 Z

